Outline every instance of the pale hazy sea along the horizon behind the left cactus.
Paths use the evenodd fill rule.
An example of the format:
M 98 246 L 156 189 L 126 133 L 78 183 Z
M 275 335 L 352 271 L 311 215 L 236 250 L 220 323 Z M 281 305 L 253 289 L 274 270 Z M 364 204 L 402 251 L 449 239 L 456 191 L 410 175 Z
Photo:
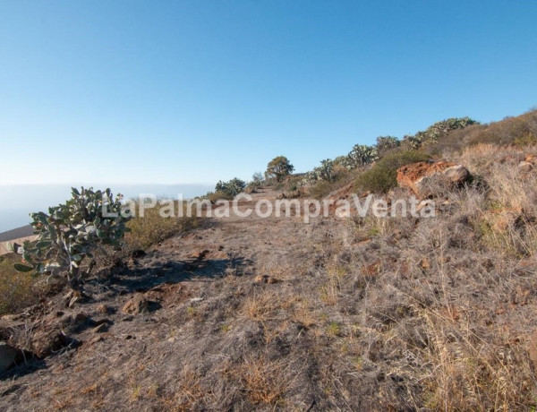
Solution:
M 91 185 L 83 185 L 90 187 Z M 48 211 L 71 198 L 71 187 L 81 185 L 0 185 L 0 232 L 30 224 L 30 212 Z M 93 185 L 96 189 L 106 186 Z M 114 194 L 122 193 L 126 198 L 138 198 L 150 193 L 158 198 L 192 199 L 213 190 L 212 185 L 111 185 Z

